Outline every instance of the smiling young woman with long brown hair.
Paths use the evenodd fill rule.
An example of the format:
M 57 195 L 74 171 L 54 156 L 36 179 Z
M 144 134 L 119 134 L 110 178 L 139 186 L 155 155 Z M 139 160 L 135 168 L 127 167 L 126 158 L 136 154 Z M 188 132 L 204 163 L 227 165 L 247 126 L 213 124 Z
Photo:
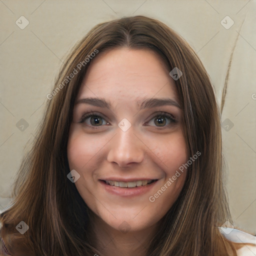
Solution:
M 220 228 L 231 221 L 220 116 L 204 67 L 173 30 L 144 16 L 98 24 L 47 98 L 1 214 L 5 253 L 253 253 L 254 236 Z

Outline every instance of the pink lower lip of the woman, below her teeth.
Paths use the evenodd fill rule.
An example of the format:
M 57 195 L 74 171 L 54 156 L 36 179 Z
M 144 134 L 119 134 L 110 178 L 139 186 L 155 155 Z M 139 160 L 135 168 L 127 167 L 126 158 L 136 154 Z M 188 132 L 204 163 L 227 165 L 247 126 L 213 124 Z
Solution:
M 120 195 L 120 196 L 135 196 L 135 195 L 144 194 L 150 191 L 153 188 L 153 186 L 157 183 L 157 181 L 158 180 L 145 186 L 135 186 L 135 187 L 127 188 L 127 187 L 111 186 L 106 184 L 104 181 L 99 180 L 99 182 L 104 186 L 104 189 L 107 192 L 115 195 Z

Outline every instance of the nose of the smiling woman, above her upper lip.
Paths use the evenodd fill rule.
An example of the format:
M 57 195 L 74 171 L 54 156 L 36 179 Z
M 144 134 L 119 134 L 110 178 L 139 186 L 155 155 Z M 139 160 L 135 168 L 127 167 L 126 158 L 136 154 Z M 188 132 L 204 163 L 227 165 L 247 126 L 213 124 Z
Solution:
M 132 127 L 127 131 L 117 128 L 109 146 L 107 161 L 116 163 L 119 167 L 140 163 L 144 159 L 144 144 L 134 134 Z

